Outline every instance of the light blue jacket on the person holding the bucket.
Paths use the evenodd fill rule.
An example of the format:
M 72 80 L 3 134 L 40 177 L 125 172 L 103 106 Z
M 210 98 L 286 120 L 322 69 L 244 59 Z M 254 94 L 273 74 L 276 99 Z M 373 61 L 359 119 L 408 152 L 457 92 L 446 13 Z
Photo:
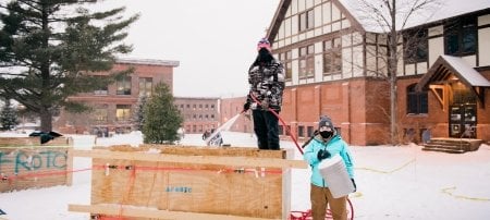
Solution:
M 326 143 L 320 135 L 317 135 L 305 148 L 303 158 L 311 167 L 311 183 L 320 187 L 328 187 L 323 178 L 320 174 L 318 164 L 320 161 L 317 158 L 318 151 L 326 149 L 330 152 L 330 157 L 340 155 L 347 168 L 347 173 L 351 179 L 354 179 L 354 163 L 352 161 L 351 151 L 347 143 L 345 143 L 340 135 L 334 135 L 330 142 Z

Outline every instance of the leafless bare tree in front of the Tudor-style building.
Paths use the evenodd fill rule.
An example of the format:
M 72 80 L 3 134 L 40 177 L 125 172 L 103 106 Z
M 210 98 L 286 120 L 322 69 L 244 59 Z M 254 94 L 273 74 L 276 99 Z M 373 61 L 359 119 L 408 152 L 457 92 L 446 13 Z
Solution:
M 380 44 L 376 40 L 376 50 L 366 49 L 366 54 L 373 56 L 384 71 L 380 71 L 380 66 L 368 75 L 382 77 L 390 85 L 390 137 L 391 144 L 397 144 L 397 103 L 396 103 L 396 80 L 397 66 L 400 59 L 403 58 L 404 47 L 403 33 L 405 29 L 427 22 L 441 4 L 440 0 L 358 0 L 356 5 L 351 5 L 352 10 L 358 14 L 359 22 L 367 33 L 372 36 L 381 36 L 385 38 Z M 369 38 L 369 34 L 366 35 Z M 416 40 L 415 38 L 411 38 Z M 413 45 L 413 44 L 405 44 Z M 411 49 L 411 48 L 408 48 Z M 406 52 L 405 52 L 406 53 Z

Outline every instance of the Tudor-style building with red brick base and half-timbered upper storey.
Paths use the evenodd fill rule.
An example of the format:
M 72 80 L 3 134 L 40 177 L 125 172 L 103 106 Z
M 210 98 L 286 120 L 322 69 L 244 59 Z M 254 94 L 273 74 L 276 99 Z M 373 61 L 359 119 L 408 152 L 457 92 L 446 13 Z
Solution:
M 445 0 L 402 33 L 400 138 L 417 142 L 430 129 L 432 137 L 490 140 L 490 1 L 461 3 Z M 356 0 L 281 0 L 267 33 L 286 69 L 281 117 L 298 137 L 328 114 L 350 144 L 385 144 L 390 85 L 378 76 L 389 74 L 388 36 L 352 5 Z

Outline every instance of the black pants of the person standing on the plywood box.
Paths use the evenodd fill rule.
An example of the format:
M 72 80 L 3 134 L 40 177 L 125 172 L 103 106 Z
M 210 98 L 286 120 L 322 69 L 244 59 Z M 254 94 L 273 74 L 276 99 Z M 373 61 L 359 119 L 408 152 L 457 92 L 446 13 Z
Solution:
M 270 111 L 253 110 L 259 149 L 279 149 L 279 119 Z

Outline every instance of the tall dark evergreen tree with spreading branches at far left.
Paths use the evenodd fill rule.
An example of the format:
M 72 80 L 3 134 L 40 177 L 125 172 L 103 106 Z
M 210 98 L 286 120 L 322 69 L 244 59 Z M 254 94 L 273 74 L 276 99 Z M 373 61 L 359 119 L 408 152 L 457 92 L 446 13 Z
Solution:
M 40 130 L 52 130 L 53 113 L 89 109 L 68 99 L 113 83 L 131 70 L 108 77 L 115 56 L 132 47 L 121 42 L 137 15 L 124 8 L 90 12 L 97 0 L 12 0 L 0 2 L 0 96 L 39 114 Z M 85 8 L 84 8 L 85 7 Z

